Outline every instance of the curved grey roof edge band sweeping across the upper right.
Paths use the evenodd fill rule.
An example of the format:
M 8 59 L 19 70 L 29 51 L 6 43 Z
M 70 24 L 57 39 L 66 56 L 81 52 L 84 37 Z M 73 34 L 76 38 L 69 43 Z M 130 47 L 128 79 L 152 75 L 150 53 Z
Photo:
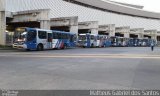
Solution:
M 108 0 L 65 0 L 72 3 L 81 4 L 84 6 L 97 8 L 101 10 L 108 10 L 120 14 L 151 18 L 151 19 L 160 19 L 160 13 L 145 11 L 140 8 L 131 7 L 128 5 L 108 1 Z

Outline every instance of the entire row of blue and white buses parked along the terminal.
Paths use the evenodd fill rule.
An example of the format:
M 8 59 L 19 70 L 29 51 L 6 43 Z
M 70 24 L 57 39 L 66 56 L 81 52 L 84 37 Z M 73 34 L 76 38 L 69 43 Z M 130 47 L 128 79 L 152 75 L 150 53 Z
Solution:
M 107 35 L 79 34 L 44 30 L 38 28 L 17 28 L 14 34 L 13 47 L 26 50 L 65 49 L 74 47 L 140 47 L 156 44 L 153 39 L 135 39 L 108 37 Z

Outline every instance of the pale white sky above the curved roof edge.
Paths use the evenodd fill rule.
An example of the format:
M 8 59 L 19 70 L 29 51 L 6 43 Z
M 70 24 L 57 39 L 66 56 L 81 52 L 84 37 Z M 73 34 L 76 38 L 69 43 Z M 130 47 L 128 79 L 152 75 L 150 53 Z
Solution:
M 144 6 L 144 10 L 160 13 L 160 0 L 112 0 L 129 4 Z

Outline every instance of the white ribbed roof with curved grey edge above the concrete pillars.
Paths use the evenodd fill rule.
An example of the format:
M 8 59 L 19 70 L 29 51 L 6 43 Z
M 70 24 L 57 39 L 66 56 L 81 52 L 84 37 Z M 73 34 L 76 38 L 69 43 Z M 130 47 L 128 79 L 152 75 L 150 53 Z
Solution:
M 5 1 L 6 12 L 50 9 L 50 18 L 78 16 L 78 22 L 98 21 L 99 25 L 115 24 L 131 28 L 160 30 L 160 13 L 148 12 L 133 6 L 112 2 L 112 0 Z

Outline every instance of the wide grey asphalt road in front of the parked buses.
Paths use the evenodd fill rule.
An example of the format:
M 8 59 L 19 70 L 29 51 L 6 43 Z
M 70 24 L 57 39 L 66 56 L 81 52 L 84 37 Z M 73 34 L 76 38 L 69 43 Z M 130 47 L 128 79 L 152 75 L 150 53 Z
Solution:
M 0 50 L 0 89 L 160 89 L 160 48 Z

